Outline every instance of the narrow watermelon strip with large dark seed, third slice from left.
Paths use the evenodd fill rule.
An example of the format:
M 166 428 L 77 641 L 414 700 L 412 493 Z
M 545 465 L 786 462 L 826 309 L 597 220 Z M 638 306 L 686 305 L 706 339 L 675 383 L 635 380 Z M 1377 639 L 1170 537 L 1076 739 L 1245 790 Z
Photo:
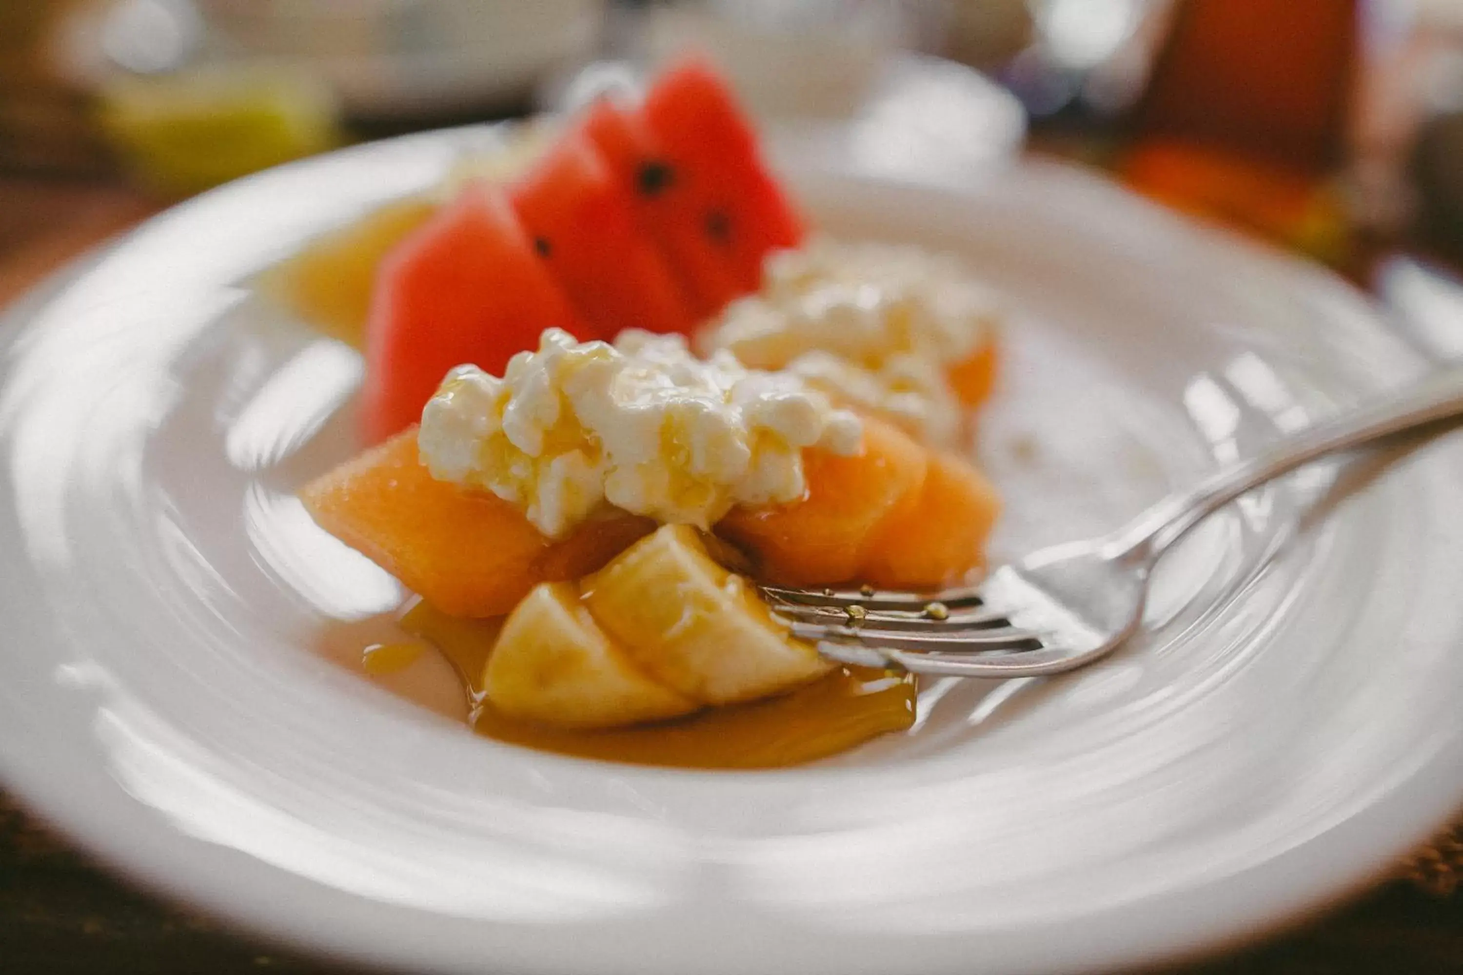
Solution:
M 673 181 L 670 165 L 639 115 L 600 99 L 585 115 L 582 133 L 631 190 L 641 227 L 660 244 L 698 320 L 751 291 L 723 250 L 698 228 L 698 202 Z

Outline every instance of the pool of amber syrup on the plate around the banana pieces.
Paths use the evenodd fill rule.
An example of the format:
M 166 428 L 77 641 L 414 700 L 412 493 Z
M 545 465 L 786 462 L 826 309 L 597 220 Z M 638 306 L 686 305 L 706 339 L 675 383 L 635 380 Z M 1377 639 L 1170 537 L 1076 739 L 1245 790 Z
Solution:
M 702 769 L 774 769 L 846 751 L 914 724 L 914 678 L 843 668 L 780 697 L 631 728 L 568 731 L 506 718 L 480 677 L 500 621 L 445 615 L 411 601 L 336 621 L 320 652 L 373 684 L 508 744 L 584 759 Z

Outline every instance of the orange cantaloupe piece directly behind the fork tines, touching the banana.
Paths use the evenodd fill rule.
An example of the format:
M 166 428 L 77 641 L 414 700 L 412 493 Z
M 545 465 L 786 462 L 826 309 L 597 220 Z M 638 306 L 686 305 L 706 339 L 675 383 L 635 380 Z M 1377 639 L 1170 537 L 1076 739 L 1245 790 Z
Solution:
M 803 453 L 808 493 L 771 509 L 733 509 L 717 526 L 751 550 L 761 574 L 818 586 L 849 582 L 863 569 L 875 531 L 919 501 L 929 452 L 882 420 L 863 421 L 863 452 Z

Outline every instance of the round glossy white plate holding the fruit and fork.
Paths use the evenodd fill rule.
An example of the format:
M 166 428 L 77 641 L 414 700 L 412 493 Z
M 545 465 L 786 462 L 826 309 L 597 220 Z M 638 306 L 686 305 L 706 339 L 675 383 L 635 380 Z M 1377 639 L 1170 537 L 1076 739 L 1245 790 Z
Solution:
M 1255 496 L 1175 553 L 1137 645 L 935 686 L 917 731 L 822 767 L 546 756 L 323 664 L 325 611 L 396 595 L 291 500 L 351 452 L 360 367 L 240 282 L 493 137 L 206 194 L 4 329 L 0 770 L 111 864 L 413 971 L 1074 971 L 1292 917 L 1463 800 L 1457 443 L 1302 534 L 1324 472 Z M 1007 553 L 1419 368 L 1333 278 L 1075 171 L 793 168 L 819 224 L 958 250 L 1009 295 L 982 436 Z

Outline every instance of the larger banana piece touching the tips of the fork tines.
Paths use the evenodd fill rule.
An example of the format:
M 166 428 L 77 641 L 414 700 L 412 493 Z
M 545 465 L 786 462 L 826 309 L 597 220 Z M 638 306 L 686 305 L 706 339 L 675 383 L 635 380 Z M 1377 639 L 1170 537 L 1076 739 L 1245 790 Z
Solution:
M 755 700 L 827 674 L 701 534 L 666 525 L 582 580 L 598 624 L 655 680 L 708 705 Z

